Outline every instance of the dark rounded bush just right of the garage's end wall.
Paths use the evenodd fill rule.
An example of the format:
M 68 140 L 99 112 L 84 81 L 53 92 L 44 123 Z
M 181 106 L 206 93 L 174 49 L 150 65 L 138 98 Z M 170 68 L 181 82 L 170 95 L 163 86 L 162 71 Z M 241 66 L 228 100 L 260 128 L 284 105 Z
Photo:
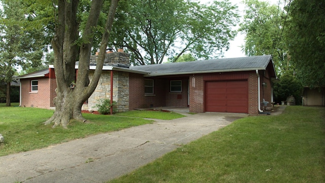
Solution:
M 290 74 L 281 75 L 279 80 L 274 82 L 275 103 L 281 104 L 281 101 L 286 101 L 286 98 L 292 95 L 295 97 L 296 105 L 301 105 L 302 88 L 297 77 Z

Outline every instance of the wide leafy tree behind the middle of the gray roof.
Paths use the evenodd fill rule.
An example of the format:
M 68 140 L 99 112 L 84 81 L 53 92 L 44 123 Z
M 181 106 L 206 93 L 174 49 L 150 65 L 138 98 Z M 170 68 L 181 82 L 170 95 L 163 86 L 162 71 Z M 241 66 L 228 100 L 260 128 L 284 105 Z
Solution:
M 218 56 L 229 48 L 237 7 L 228 0 L 202 5 L 184 0 L 129 0 L 117 14 L 110 42 L 126 47 L 136 65 L 161 64 L 185 52 L 198 58 Z

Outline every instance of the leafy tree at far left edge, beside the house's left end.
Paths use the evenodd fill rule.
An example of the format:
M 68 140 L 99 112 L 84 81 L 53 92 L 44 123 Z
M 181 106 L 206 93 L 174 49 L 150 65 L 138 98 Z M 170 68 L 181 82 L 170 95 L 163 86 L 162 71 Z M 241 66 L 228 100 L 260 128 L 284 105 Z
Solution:
M 17 67 L 41 65 L 43 29 L 30 27 L 33 17 L 23 1 L 2 0 L 0 19 L 0 80 L 7 83 L 6 106 L 10 106 L 10 83 Z

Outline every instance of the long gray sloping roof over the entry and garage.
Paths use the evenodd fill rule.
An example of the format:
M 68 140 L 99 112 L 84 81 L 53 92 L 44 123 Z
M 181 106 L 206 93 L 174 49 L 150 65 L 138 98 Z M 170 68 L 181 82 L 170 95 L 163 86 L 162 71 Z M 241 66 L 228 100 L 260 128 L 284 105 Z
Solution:
M 150 72 L 148 76 L 163 76 L 175 74 L 266 70 L 270 62 L 273 66 L 271 55 L 262 55 L 239 58 L 197 60 L 192 62 L 181 63 L 133 66 L 130 67 L 130 69 Z

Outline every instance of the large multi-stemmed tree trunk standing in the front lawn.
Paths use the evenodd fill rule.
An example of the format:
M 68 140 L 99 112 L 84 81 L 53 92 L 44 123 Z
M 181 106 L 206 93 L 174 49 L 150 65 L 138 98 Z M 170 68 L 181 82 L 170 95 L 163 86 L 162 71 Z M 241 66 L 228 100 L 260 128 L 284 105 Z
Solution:
M 82 44 L 76 45 L 79 39 L 77 23 L 78 0 L 58 1 L 58 19 L 56 23 L 56 35 L 52 40 L 54 51 L 54 68 L 56 77 L 56 98 L 54 99 L 55 112 L 44 124 L 54 123 L 53 127 L 62 126 L 67 128 L 71 119 L 85 121 L 81 114 L 82 104 L 90 97 L 100 79 L 109 32 L 111 30 L 115 11 L 119 0 L 112 0 L 108 19 L 103 34 L 100 55 L 97 60 L 96 69 L 89 83 L 90 51 L 93 42 L 94 28 L 97 25 L 104 0 L 93 0 L 89 17 L 83 30 Z M 78 76 L 76 77 L 75 64 L 80 48 Z M 71 82 L 76 81 L 74 88 Z

